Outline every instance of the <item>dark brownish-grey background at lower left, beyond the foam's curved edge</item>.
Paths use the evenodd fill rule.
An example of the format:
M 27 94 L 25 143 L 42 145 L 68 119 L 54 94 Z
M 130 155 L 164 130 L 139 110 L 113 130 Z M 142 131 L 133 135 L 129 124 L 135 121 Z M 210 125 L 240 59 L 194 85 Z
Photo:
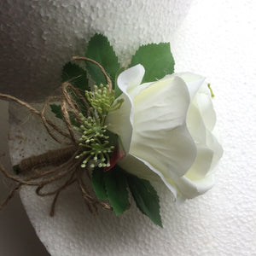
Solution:
M 9 130 L 9 102 L 0 101 L 0 154 L 8 152 L 8 130 Z M 11 168 L 9 154 L 1 157 L 1 163 L 6 168 Z M 0 200 L 9 193 L 9 189 L 15 184 L 0 177 Z M 25 208 L 22 206 L 20 196 L 15 195 L 8 207 L 0 211 L 0 255 L 25 256 L 49 255 L 46 252 L 30 220 L 27 218 Z M 19 230 L 17 230 L 19 227 Z M 20 236 L 22 234 L 22 236 Z M 14 246 L 15 244 L 15 246 Z

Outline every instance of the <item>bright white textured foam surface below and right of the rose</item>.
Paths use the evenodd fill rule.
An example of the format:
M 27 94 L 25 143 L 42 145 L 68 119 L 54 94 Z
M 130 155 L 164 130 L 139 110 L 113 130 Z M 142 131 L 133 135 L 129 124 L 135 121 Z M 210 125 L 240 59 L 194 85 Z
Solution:
M 177 72 L 201 73 L 216 95 L 224 158 L 213 189 L 177 206 L 158 186 L 162 230 L 134 205 L 119 218 L 111 212 L 92 217 L 75 189 L 63 193 L 49 218 L 49 201 L 23 190 L 26 211 L 52 255 L 256 255 L 255 13 L 253 0 L 198 0 L 171 38 Z M 26 120 L 19 126 L 26 129 L 19 129 L 35 140 L 17 149 L 36 154 L 44 148 L 32 145 L 37 137 L 44 145 L 44 136 L 28 125 Z

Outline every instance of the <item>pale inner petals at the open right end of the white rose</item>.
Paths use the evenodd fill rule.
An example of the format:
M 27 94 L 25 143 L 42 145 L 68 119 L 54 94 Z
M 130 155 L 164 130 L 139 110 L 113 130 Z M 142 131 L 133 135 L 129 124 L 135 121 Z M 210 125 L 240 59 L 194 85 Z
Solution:
M 196 143 L 197 156 L 189 172 L 174 180 L 183 198 L 193 198 L 212 188 L 212 170 L 223 154 L 222 147 L 211 132 L 215 122 L 216 114 L 210 92 L 207 85 L 203 84 L 189 107 L 187 117 L 189 132 Z

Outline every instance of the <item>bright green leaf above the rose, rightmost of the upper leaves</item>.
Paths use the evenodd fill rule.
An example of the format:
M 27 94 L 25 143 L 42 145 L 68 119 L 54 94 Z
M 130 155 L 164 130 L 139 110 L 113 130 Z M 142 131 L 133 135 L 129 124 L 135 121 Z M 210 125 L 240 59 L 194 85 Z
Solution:
M 131 58 L 129 67 L 142 64 L 145 68 L 143 83 L 162 79 L 166 74 L 174 72 L 174 59 L 170 43 L 147 44 L 140 46 Z

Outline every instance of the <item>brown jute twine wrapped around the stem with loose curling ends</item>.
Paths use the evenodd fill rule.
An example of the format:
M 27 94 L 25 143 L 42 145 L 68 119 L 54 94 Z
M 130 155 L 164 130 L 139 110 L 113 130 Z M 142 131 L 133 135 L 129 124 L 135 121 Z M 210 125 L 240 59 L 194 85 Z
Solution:
M 73 60 L 81 60 L 81 61 L 90 61 L 99 67 L 105 76 L 105 79 L 109 85 L 109 90 L 112 90 L 112 82 L 109 79 L 107 73 L 104 68 L 97 63 L 86 57 L 73 57 Z M 3 175 L 17 183 L 15 189 L 12 189 L 6 199 L 0 204 L 0 210 L 5 207 L 8 202 L 14 197 L 15 192 L 19 191 L 23 185 L 28 186 L 36 186 L 36 194 L 38 196 L 49 196 L 54 195 L 54 199 L 52 201 L 50 207 L 50 216 L 54 216 L 55 214 L 55 204 L 56 201 L 61 194 L 61 191 L 67 189 L 68 186 L 77 182 L 79 185 L 79 190 L 86 202 L 90 212 L 96 213 L 97 206 L 101 206 L 104 209 L 112 210 L 112 207 L 105 203 L 104 201 L 99 201 L 90 195 L 89 189 L 84 184 L 84 172 L 87 173 L 87 177 L 90 177 L 90 171 L 88 168 L 81 168 L 81 162 L 83 159 L 76 159 L 75 157 L 81 153 L 81 148 L 79 147 L 79 141 L 75 136 L 75 132 L 73 130 L 73 125 L 69 118 L 69 113 L 73 113 L 75 119 L 79 122 L 79 124 L 83 124 L 80 119 L 79 113 L 81 113 L 81 109 L 79 108 L 79 104 L 74 99 L 79 98 L 81 102 L 84 103 L 84 107 L 87 109 L 87 116 L 90 114 L 90 106 L 84 96 L 80 93 L 78 89 L 73 87 L 69 82 L 65 82 L 61 85 L 61 96 L 49 96 L 44 102 L 43 108 L 41 111 L 38 111 L 36 108 L 32 108 L 26 102 L 20 101 L 20 99 L 9 96 L 5 94 L 0 94 L 0 99 L 7 100 L 9 102 L 16 102 L 21 106 L 27 108 L 31 113 L 34 113 L 40 117 L 43 122 L 43 125 L 48 132 L 49 136 L 52 137 L 57 143 L 61 145 L 68 145 L 66 148 L 60 148 L 55 150 L 49 150 L 44 154 L 31 156 L 24 160 L 20 161 L 19 170 L 24 177 L 18 177 L 10 174 L 5 170 L 5 168 L 0 163 L 0 171 Z M 62 131 L 61 128 L 55 125 L 50 119 L 45 117 L 45 110 L 49 105 L 49 102 L 53 100 L 61 100 L 61 111 L 64 119 L 64 123 L 66 124 L 67 131 Z M 61 138 L 60 138 L 61 137 Z M 0 158 L 3 155 L 0 155 Z M 49 167 L 48 171 L 43 171 L 44 167 Z M 64 183 L 58 185 L 58 187 L 52 191 L 42 192 L 45 186 L 49 183 L 55 183 L 58 180 L 65 179 Z

